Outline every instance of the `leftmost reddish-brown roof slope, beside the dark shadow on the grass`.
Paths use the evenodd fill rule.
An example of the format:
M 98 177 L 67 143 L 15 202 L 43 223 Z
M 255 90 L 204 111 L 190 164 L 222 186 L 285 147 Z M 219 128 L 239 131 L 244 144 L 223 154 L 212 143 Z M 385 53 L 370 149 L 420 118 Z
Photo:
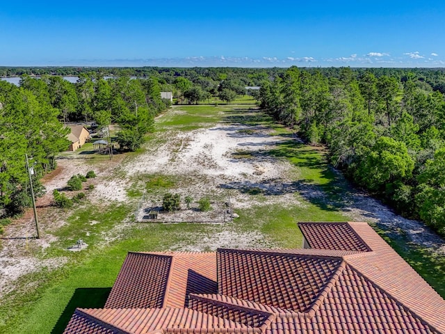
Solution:
M 172 257 L 128 253 L 105 308 L 161 308 Z

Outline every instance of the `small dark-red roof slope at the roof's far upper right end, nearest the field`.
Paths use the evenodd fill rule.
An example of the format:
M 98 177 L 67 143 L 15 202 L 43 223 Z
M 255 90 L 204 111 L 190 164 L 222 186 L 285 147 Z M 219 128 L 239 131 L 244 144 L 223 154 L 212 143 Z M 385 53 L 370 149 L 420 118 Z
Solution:
M 331 250 L 371 250 L 348 223 L 298 223 L 311 248 Z

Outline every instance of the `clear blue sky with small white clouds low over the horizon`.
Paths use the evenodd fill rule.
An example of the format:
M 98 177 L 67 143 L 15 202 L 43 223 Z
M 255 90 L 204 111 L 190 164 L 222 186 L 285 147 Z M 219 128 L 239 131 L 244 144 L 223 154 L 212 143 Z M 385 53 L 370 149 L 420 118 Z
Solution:
M 445 67 L 442 0 L 5 2 L 5 66 Z

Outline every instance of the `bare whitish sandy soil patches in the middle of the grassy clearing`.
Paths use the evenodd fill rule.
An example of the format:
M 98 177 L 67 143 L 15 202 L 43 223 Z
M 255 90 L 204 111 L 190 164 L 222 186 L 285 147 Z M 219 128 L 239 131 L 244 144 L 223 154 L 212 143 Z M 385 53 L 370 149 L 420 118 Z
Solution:
M 324 194 L 311 185 L 295 186 L 298 171 L 289 162 L 275 159 L 265 154 L 281 141 L 289 137 L 271 136 L 266 127 L 246 127 L 220 123 L 209 129 L 192 132 L 163 132 L 165 139 L 157 147 L 147 146 L 146 152 L 122 161 L 115 157 L 112 161 L 92 168 L 79 154 L 72 159 L 58 159 L 58 169 L 44 180 L 47 195 L 38 201 L 42 216 L 41 228 L 48 231 L 65 224 L 64 216 L 51 213 L 52 191 L 62 189 L 67 180 L 76 173 L 86 174 L 95 169 L 95 189 L 89 194 L 91 202 L 126 202 L 127 189 L 138 175 L 171 175 L 178 180 L 175 192 L 182 196 L 198 199 L 212 196 L 221 202 L 230 202 L 234 211 L 254 205 L 305 205 L 302 198 L 323 198 Z M 295 138 L 298 141 L 298 138 Z M 113 176 L 114 175 L 114 176 Z M 116 177 L 119 175 L 119 177 Z M 262 191 L 274 196 L 263 196 L 261 202 L 252 201 L 249 191 Z M 159 201 L 147 198 L 141 209 Z M 187 210 L 184 210 L 186 212 Z M 445 244 L 436 234 L 430 232 L 418 221 L 397 216 L 377 200 L 366 194 L 352 190 L 345 196 L 343 212 L 351 221 L 370 221 L 384 226 L 387 230 L 403 230 L 407 240 L 445 253 Z M 122 228 L 117 226 L 116 228 Z M 0 251 L 0 296 L 13 288 L 13 281 L 20 276 L 47 267 L 62 266 L 66 258 L 38 260 L 36 253 L 49 246 L 54 237 L 43 233 L 43 239 L 26 239 L 35 235 L 32 210 L 6 228 L 1 240 Z M 238 232 L 225 230 L 212 236 L 201 236 L 200 244 L 175 245 L 172 250 L 208 250 L 218 247 L 273 247 L 259 232 Z

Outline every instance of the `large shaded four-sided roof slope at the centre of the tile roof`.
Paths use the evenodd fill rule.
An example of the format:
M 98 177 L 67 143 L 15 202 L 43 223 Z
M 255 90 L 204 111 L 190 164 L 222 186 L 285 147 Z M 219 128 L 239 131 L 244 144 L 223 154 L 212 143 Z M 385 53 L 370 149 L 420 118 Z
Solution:
M 220 249 L 218 293 L 304 312 L 339 268 L 341 258 Z

